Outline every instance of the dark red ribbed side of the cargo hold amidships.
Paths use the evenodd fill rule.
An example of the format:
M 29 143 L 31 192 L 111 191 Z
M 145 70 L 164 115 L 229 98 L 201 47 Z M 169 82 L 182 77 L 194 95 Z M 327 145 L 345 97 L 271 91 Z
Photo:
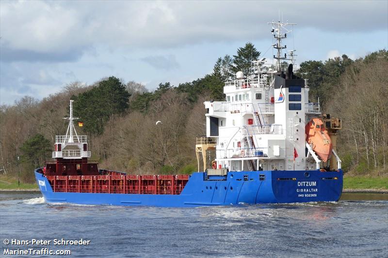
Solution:
M 54 192 L 178 195 L 189 175 L 47 176 Z

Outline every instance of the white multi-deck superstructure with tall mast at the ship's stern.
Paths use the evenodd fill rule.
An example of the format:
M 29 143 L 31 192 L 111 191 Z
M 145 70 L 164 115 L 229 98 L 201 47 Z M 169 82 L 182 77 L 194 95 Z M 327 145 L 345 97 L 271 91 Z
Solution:
M 282 61 L 294 60 L 281 53 L 290 24 L 270 24 L 276 27 L 272 30 L 278 53 L 275 65 L 266 65 L 265 59 L 254 61 L 251 75 L 238 72 L 235 80 L 225 83 L 226 101 L 204 102 L 206 136 L 216 139 L 216 168 L 307 170 L 322 166 L 312 151 L 307 152 L 305 133 L 307 122 L 321 114 L 319 103 L 309 103 L 307 83 L 293 75 L 292 63 L 283 71 Z

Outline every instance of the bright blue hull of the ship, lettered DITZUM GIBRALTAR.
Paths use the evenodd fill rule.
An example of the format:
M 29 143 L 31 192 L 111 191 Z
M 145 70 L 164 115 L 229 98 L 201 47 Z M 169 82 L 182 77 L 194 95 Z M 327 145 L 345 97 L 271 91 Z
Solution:
M 342 171 L 238 171 L 223 176 L 195 172 L 179 195 L 53 192 L 47 178 L 35 177 L 48 203 L 94 205 L 198 207 L 241 203 L 295 203 L 338 201 Z

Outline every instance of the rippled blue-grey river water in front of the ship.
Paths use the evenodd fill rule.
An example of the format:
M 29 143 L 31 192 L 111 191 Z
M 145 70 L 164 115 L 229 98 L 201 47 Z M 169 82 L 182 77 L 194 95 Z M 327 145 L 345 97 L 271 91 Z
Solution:
M 54 244 L 81 238 L 90 243 Z M 5 239 L 51 242 L 5 245 Z M 93 258 L 380 258 L 388 256 L 388 200 L 344 194 L 337 203 L 177 209 L 47 204 L 39 193 L 3 192 L 0 242 L 0 257 L 52 257 L 4 255 L 4 249 L 48 248 Z

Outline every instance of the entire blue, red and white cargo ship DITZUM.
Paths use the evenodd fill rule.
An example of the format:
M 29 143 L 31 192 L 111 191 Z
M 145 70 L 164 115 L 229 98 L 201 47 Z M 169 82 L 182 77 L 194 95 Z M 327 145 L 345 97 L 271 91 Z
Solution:
M 196 138 L 197 172 L 133 175 L 98 169 L 89 160 L 87 137 L 76 132 L 70 100 L 66 134 L 55 137 L 55 161 L 34 171 L 46 202 L 198 207 L 338 201 L 341 120 L 309 102 L 307 81 L 293 73 L 294 50 L 283 55 L 291 23 L 269 24 L 275 65 L 253 61 L 249 75 L 237 72 L 225 82 L 225 101 L 204 102 L 206 136 Z M 210 150 L 215 159 L 207 164 Z

